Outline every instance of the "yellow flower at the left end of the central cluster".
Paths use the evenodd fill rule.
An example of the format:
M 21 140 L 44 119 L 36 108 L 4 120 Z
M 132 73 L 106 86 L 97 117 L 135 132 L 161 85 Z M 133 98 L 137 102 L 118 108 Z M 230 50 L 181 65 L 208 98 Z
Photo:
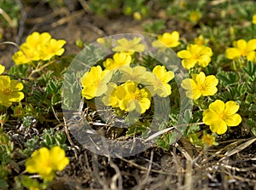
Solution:
M 82 84 L 82 96 L 90 100 L 96 96 L 103 95 L 107 89 L 107 83 L 112 77 L 112 72 L 108 70 L 102 71 L 101 66 L 93 66 L 90 72 L 85 72 L 80 79 Z

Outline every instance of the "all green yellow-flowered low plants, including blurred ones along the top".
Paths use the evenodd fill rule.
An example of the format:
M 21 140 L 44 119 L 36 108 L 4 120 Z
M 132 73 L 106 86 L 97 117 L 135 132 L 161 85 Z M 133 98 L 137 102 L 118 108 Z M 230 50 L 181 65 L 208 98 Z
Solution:
M 150 2 L 89 1 L 88 6 L 96 14 L 118 9 L 141 20 L 150 15 L 155 3 Z M 256 10 L 252 3 L 240 9 L 237 2 L 168 1 L 165 16 L 177 14 L 197 28 L 195 36 L 183 36 L 178 28 L 167 31 L 166 20 L 154 20 L 143 27 L 156 38 L 77 40 L 76 56 L 63 55 L 66 41 L 49 32 L 28 35 L 16 45 L 15 66 L 0 65 L 0 188 L 49 188 L 73 162 L 70 150 L 78 159 L 76 143 L 121 157 L 143 151 L 135 150 L 137 141 L 164 151 L 180 141 L 207 155 L 234 135 L 255 138 Z M 15 23 L 17 4 L 0 0 L 0 5 Z M 247 27 L 239 25 L 243 21 Z M 101 149 L 108 140 L 113 147 Z M 127 143 L 119 150 L 120 141 L 131 142 L 131 148 Z

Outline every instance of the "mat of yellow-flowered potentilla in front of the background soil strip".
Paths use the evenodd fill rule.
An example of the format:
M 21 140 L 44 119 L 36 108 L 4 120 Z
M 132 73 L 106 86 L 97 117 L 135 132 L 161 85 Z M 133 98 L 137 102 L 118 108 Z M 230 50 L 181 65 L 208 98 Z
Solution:
M 239 39 L 224 49 L 230 61 L 225 69 L 214 65 L 216 49 L 201 35 L 188 44 L 177 31 L 145 41 L 142 35 L 102 37 L 68 66 L 70 59 L 59 58 L 64 40 L 48 32 L 29 35 L 13 55 L 16 65 L 9 71 L 0 65 L 1 154 L 8 155 L 1 160 L 1 175 L 9 176 L 16 156 L 2 132 L 13 118 L 26 135 L 25 150 L 19 152 L 26 158 L 22 167 L 33 175 L 16 178 L 17 184 L 38 189 L 48 187 L 69 164 L 67 138 L 53 125 L 68 126 L 85 147 L 112 146 L 113 154 L 107 148 L 96 151 L 108 156 L 119 156 L 124 145 L 119 140 L 130 145 L 121 156 L 129 156 L 143 151 L 134 148 L 134 139 L 166 150 L 185 139 L 207 150 L 218 146 L 224 134 L 231 136 L 233 129 L 249 128 L 247 135 L 256 135 L 254 38 Z

